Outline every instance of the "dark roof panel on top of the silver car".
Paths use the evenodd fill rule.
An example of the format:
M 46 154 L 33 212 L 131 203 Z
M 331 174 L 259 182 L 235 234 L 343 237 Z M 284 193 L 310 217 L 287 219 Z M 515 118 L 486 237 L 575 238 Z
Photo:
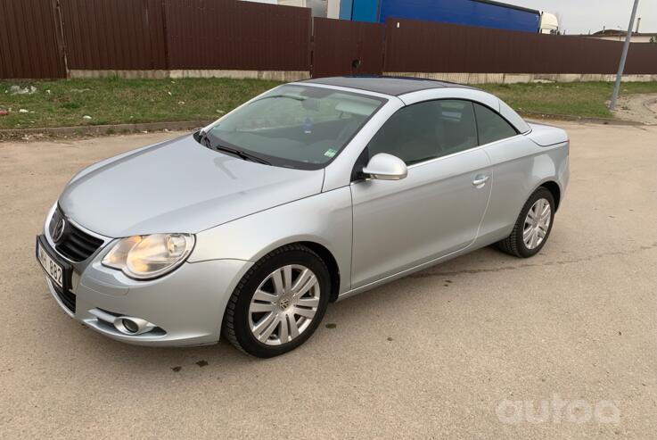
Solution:
M 307 79 L 300 81 L 310 84 L 324 84 L 327 86 L 349 87 L 366 90 L 368 92 L 382 93 L 383 95 L 406 95 L 418 90 L 431 88 L 460 87 L 473 88 L 447 81 L 411 77 L 382 77 L 382 76 L 346 76 Z

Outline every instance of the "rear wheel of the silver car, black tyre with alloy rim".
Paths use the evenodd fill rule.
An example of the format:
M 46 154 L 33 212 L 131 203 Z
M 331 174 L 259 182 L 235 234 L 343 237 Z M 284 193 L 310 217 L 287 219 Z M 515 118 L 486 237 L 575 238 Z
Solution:
M 538 223 L 536 224 L 535 228 L 538 228 L 537 237 L 538 239 L 540 239 L 540 241 L 536 244 L 530 241 L 530 244 L 528 245 L 527 243 L 525 243 L 526 237 L 523 237 L 523 233 L 526 230 L 530 230 L 532 224 L 527 223 L 526 220 L 534 221 L 528 218 L 528 214 L 530 213 L 530 210 L 532 210 L 532 213 L 535 212 L 534 211 L 535 203 L 538 203 L 538 201 L 541 200 L 546 201 L 546 203 L 549 206 L 548 224 L 546 228 L 543 223 L 541 223 L 541 225 L 543 225 L 543 228 L 541 228 L 540 225 L 538 225 Z M 524 206 L 522 206 L 521 212 L 518 215 L 518 219 L 515 221 L 515 225 L 513 225 L 513 230 L 511 231 L 511 235 L 509 237 L 506 237 L 504 240 L 497 242 L 497 248 L 502 252 L 509 253 L 519 258 L 533 257 L 534 255 L 539 253 L 541 249 L 543 249 L 544 245 L 546 245 L 547 238 L 550 237 L 550 232 L 552 231 L 553 224 L 554 224 L 554 196 L 547 188 L 539 187 L 534 192 L 534 194 L 530 195 L 530 198 L 527 200 Z M 544 237 L 540 237 L 541 234 L 544 234 Z

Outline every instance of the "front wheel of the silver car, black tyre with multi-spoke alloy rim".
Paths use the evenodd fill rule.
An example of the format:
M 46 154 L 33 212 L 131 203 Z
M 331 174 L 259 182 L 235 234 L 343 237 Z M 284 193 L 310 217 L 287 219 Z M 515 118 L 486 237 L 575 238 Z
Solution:
M 329 270 L 319 255 L 303 245 L 285 245 L 256 262 L 235 287 L 223 334 L 242 352 L 259 358 L 290 352 L 315 332 L 330 292 Z

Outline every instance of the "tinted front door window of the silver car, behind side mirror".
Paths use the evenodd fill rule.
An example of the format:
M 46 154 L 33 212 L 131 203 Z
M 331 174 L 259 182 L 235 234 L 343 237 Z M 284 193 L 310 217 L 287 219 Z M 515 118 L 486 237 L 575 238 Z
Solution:
M 437 100 L 413 104 L 396 112 L 374 135 L 369 157 L 388 153 L 407 165 L 477 146 L 472 103 Z

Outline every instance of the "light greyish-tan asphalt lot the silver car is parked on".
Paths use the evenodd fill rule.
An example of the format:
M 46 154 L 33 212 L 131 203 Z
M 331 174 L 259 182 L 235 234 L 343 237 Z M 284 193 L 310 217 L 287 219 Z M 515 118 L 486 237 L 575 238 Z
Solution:
M 46 291 L 34 237 L 67 180 L 175 134 L 0 144 L 0 437 L 654 438 L 657 127 L 561 125 L 571 187 L 542 253 L 332 304 L 267 361 L 113 342 Z

